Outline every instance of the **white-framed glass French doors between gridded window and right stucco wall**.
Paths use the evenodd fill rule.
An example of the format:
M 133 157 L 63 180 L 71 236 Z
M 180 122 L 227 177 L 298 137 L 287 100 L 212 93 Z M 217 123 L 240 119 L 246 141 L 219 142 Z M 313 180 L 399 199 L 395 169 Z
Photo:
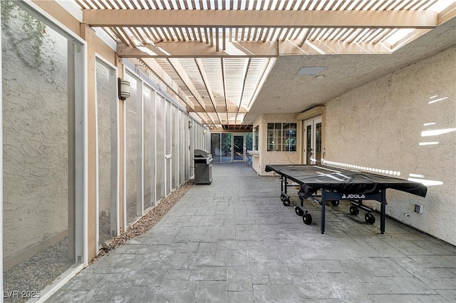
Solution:
M 321 125 L 321 115 L 316 118 L 305 120 L 303 123 L 303 164 L 321 163 Z

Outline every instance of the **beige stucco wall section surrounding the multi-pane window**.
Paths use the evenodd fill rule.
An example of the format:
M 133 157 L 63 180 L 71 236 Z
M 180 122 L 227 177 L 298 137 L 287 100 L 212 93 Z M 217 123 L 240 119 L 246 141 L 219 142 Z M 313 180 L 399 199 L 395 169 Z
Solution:
M 273 152 L 267 151 L 267 123 L 297 123 L 296 152 Z M 301 164 L 301 122 L 296 120 L 296 114 L 263 114 L 254 120 L 254 127 L 259 125 L 259 157 L 254 157 L 254 168 L 259 175 L 272 175 L 266 173 L 264 168 L 271 164 Z

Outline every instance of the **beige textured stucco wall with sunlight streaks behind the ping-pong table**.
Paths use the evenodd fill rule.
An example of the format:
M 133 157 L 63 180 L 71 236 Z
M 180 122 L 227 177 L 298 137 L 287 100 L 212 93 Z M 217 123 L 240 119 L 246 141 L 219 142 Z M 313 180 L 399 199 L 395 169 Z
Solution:
M 324 130 L 326 160 L 398 171 L 404 179 L 415 174 L 440 181 L 442 185 L 428 187 L 425 198 L 388 190 L 387 213 L 453 245 L 455 82 L 456 47 L 452 47 L 326 103 Z M 445 99 L 429 104 L 439 98 Z M 452 131 L 422 136 L 425 130 L 444 129 Z M 431 141 L 438 144 L 419 144 Z M 423 214 L 413 212 L 414 203 L 424 205 Z

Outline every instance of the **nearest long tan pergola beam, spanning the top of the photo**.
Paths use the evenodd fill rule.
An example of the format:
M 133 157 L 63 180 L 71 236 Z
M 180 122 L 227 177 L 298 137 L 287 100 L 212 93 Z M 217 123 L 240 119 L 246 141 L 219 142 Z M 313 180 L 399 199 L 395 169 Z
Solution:
M 351 27 L 432 29 L 438 25 L 435 11 L 244 11 L 83 9 L 90 26 L 171 27 Z

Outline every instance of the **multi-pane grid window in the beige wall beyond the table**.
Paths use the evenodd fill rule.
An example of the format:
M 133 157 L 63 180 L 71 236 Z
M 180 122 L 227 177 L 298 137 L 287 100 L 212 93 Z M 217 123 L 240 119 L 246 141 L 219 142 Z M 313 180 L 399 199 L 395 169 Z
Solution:
M 268 123 L 268 151 L 296 151 L 296 123 Z

